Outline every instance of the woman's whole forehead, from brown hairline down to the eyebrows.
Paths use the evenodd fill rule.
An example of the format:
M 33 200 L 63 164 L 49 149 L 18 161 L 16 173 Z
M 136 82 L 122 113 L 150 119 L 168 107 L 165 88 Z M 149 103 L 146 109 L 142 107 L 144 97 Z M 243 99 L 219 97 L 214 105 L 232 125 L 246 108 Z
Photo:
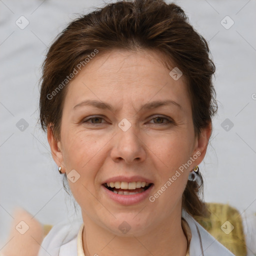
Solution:
M 140 105 L 164 97 L 184 105 L 189 96 L 185 79 L 174 80 L 169 71 L 153 51 L 99 52 L 70 82 L 67 100 L 73 106 L 86 99 Z

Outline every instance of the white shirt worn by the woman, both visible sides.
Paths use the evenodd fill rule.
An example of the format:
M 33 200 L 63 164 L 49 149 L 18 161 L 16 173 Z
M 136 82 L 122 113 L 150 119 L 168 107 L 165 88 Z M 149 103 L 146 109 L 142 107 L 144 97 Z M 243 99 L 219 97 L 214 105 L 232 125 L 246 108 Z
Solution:
M 182 217 L 192 234 L 189 256 L 234 256 L 184 210 Z M 84 256 L 82 229 L 82 219 L 73 222 L 66 220 L 54 225 L 44 237 L 37 256 Z

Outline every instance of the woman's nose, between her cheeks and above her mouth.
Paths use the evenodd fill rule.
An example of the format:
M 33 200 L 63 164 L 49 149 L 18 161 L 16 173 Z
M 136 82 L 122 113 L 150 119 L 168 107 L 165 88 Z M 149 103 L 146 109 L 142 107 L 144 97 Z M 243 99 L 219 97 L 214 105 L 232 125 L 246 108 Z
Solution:
M 132 124 L 126 131 L 116 127 L 117 134 L 113 137 L 113 147 L 110 153 L 113 161 L 124 160 L 125 163 L 130 164 L 145 160 L 146 143 L 135 126 Z

